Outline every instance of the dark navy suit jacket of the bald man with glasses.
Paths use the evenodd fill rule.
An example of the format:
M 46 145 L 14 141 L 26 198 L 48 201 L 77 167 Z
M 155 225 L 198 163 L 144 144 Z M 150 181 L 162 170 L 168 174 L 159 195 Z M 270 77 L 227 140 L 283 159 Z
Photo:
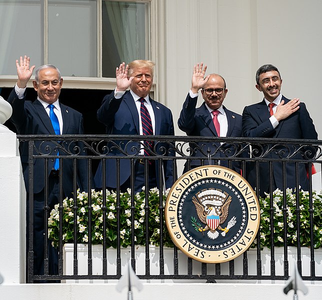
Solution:
M 216 142 L 216 137 L 218 137 L 217 132 L 214 128 L 214 124 L 212 122 L 212 117 L 210 115 L 209 110 L 205 106 L 205 102 L 201 104 L 200 107 L 195 108 L 197 103 L 197 97 L 191 98 L 189 93 L 187 94 L 185 101 L 182 106 L 182 110 L 180 112 L 180 117 L 178 119 L 179 128 L 184 131 L 187 135 L 190 136 L 213 136 L 213 142 L 208 143 L 198 143 L 198 146 L 201 148 L 200 150 L 196 150 L 192 152 L 191 156 L 202 157 L 207 154 L 208 148 L 210 149 L 210 153 L 215 151 L 216 148 L 220 146 L 219 142 Z M 228 130 L 227 137 L 239 137 L 241 136 L 241 115 L 235 113 L 225 106 L 223 109 L 227 116 L 228 121 Z M 191 143 L 191 148 L 195 148 L 195 144 Z M 229 154 L 232 155 L 235 152 L 235 148 L 232 145 L 224 144 L 222 146 L 224 149 L 231 149 Z M 218 151 L 215 155 L 211 157 L 227 157 L 224 151 Z M 205 164 L 207 164 L 205 162 Z M 194 159 L 191 160 L 191 167 L 196 167 L 200 165 L 200 160 Z M 220 160 L 220 165 L 228 167 L 227 160 Z M 239 173 L 240 171 L 240 163 L 237 161 L 232 162 L 232 169 Z M 184 171 L 187 171 L 185 166 Z

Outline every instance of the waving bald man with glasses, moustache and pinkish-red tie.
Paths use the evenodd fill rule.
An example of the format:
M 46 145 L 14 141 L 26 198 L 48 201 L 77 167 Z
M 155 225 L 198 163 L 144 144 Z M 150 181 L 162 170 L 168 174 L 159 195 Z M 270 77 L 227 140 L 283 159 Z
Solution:
M 191 88 L 183 103 L 178 126 L 187 135 L 214 137 L 213 142 L 190 143 L 192 156 L 206 156 L 208 150 L 210 150 L 211 158 L 215 159 L 227 157 L 228 155 L 233 156 L 238 150 L 238 146 L 235 147 L 229 143 L 220 144 L 215 139 L 219 136 L 241 136 L 241 115 L 228 110 L 222 105 L 228 92 L 223 77 L 218 74 L 209 74 L 204 77 L 207 66 L 202 67 L 202 62 L 193 66 Z M 201 89 L 204 102 L 200 107 L 196 108 L 199 89 Z M 204 163 L 208 164 L 206 157 Z M 221 159 L 218 160 L 218 163 L 222 166 L 229 166 L 228 160 Z M 200 159 L 190 161 L 190 168 L 200 165 Z M 240 163 L 232 160 L 231 168 L 236 172 L 240 172 Z M 189 170 L 188 162 L 185 163 L 183 172 L 187 170 Z

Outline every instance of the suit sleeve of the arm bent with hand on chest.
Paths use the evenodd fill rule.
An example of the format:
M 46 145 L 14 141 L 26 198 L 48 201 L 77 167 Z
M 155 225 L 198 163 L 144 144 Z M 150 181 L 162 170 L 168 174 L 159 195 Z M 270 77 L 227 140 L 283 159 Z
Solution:
M 258 115 L 251 113 L 248 106 L 242 112 L 242 136 L 245 137 L 268 137 L 274 131 L 273 125 L 267 119 L 261 122 Z

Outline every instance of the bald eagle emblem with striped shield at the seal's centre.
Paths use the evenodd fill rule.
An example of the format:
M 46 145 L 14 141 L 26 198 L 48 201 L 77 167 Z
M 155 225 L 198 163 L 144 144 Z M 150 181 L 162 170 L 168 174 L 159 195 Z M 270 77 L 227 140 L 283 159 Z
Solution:
M 221 235 L 225 236 L 229 229 L 236 223 L 236 217 L 233 216 L 226 227 L 222 228 L 220 226 L 228 216 L 228 209 L 231 202 L 231 196 L 227 192 L 222 192 L 220 189 L 214 188 L 203 189 L 192 197 L 192 202 L 199 220 L 205 225 L 202 227 L 201 224 L 192 220 L 192 226 L 200 232 L 208 230 L 207 236 L 211 239 L 216 239 L 219 236 L 217 230 L 221 230 Z

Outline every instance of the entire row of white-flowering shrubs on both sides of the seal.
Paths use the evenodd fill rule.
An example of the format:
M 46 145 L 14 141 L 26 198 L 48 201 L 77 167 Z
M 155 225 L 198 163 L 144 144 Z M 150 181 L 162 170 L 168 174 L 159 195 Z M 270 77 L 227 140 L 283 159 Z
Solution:
M 168 192 L 168 191 L 167 191 Z M 163 206 L 167 196 L 163 195 Z M 103 199 L 102 191 L 91 191 L 91 242 L 101 244 L 103 240 Z M 313 235 L 314 248 L 321 247 L 322 243 L 322 195 L 312 192 L 313 201 Z M 131 195 L 130 190 L 120 193 L 120 245 L 127 247 L 131 244 Z M 63 200 L 62 209 L 62 231 L 63 243 L 73 242 L 74 227 L 74 203 L 72 198 Z M 88 242 L 88 194 L 77 192 L 77 243 Z M 158 245 L 160 239 L 160 217 L 159 217 L 159 191 L 152 188 L 148 191 L 148 234 L 149 243 Z M 260 247 L 270 247 L 270 198 L 259 198 L 260 205 Z M 106 190 L 106 246 L 117 245 L 117 219 L 116 219 L 116 193 Z M 134 195 L 134 241 L 136 245 L 145 245 L 145 190 Z M 296 246 L 296 198 L 291 189 L 286 190 L 286 230 L 287 245 Z M 309 222 L 309 196 L 307 191 L 299 192 L 299 239 L 301 246 L 310 246 L 310 222 Z M 276 189 L 273 192 L 273 227 L 274 246 L 283 246 L 284 239 L 284 215 L 283 215 L 283 193 Z M 48 236 L 54 246 L 58 246 L 59 238 L 59 210 L 58 204 L 50 212 L 48 218 Z M 163 245 L 173 246 L 173 242 L 167 232 L 163 218 Z M 256 246 L 256 239 L 252 247 Z

